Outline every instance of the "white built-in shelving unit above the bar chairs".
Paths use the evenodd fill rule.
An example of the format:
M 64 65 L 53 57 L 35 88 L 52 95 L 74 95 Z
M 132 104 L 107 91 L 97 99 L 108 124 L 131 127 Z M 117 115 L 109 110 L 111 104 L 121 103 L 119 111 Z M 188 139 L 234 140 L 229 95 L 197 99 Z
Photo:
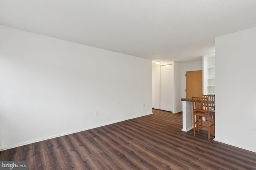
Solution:
M 215 94 L 215 54 L 203 56 L 203 94 Z

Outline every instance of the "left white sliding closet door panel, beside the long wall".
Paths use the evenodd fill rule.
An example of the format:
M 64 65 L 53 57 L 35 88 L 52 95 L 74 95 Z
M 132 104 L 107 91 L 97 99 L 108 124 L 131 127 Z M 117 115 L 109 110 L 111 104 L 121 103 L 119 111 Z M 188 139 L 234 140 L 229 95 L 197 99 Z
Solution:
M 160 66 L 152 67 L 152 108 L 160 109 Z

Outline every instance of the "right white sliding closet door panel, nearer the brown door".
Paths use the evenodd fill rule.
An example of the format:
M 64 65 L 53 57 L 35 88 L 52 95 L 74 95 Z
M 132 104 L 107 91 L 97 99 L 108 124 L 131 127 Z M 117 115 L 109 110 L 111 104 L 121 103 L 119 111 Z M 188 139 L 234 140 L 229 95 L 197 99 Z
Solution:
M 168 64 L 160 68 L 160 109 L 173 110 L 173 65 Z

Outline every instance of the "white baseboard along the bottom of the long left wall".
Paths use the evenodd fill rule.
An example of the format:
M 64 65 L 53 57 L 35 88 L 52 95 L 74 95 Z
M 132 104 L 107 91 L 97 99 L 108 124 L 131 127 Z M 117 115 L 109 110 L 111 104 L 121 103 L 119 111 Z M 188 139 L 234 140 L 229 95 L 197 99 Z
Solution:
M 134 118 L 138 118 L 138 117 L 142 117 L 142 116 L 146 116 L 146 115 L 151 115 L 151 114 L 153 114 L 153 113 L 147 113 L 147 114 L 144 114 L 144 115 L 134 116 L 134 117 L 130 117 L 130 118 L 127 118 L 127 119 L 122 119 L 122 120 L 118 120 L 118 121 L 104 123 L 104 124 L 97 125 L 97 126 L 87 127 L 87 128 L 84 128 L 84 129 L 78 129 L 78 130 L 75 130 L 75 131 L 69 131 L 69 132 L 66 132 L 66 133 L 52 135 L 52 136 L 48 136 L 48 137 L 44 137 L 44 138 L 40 138 L 40 139 L 35 139 L 35 140 L 32 140 L 32 141 L 26 141 L 26 142 L 23 142 L 23 143 L 18 143 L 16 145 L 9 145 L 8 147 L 1 148 L 0 151 L 7 150 L 7 149 L 12 149 L 12 148 L 16 148 L 16 147 L 21 147 L 21 146 L 28 145 L 28 144 L 31 144 L 31 143 L 45 141 L 45 140 L 48 140 L 48 139 L 53 139 L 53 138 L 56 138 L 56 137 L 70 135 L 72 133 L 78 133 L 78 132 L 81 132 L 81 131 L 86 131 L 86 130 L 89 130 L 89 129 L 94 129 L 96 127 L 102 127 L 102 126 L 110 125 L 110 124 L 113 124 L 113 123 L 118 123 L 118 122 L 121 122 L 121 121 L 126 121 L 126 120 L 129 120 L 129 119 L 134 119 Z M 0 144 L 1 144 L 1 141 L 2 141 L 1 139 L 2 138 L 1 138 L 1 131 L 0 131 Z

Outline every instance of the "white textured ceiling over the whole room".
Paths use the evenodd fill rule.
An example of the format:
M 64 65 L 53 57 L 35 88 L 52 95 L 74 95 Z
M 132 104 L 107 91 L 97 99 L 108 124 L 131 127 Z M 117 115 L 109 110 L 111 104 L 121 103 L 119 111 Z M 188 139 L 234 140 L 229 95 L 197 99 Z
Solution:
M 152 61 L 198 61 L 256 26 L 256 0 L 0 0 L 0 24 Z

